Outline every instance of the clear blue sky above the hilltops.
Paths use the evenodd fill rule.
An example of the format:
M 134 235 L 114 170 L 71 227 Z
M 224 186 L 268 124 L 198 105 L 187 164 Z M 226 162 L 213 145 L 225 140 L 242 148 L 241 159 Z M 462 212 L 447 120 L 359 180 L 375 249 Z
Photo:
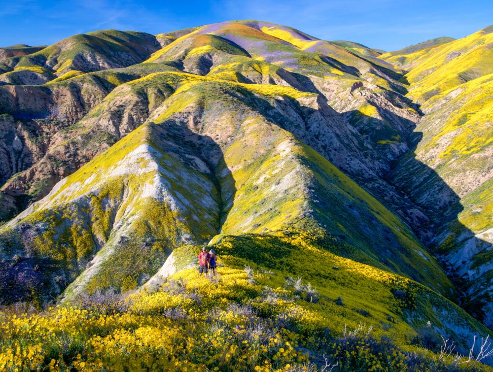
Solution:
M 486 0 L 0 0 L 0 46 L 52 44 L 103 29 L 151 34 L 232 19 L 258 19 L 326 40 L 396 50 L 493 24 Z

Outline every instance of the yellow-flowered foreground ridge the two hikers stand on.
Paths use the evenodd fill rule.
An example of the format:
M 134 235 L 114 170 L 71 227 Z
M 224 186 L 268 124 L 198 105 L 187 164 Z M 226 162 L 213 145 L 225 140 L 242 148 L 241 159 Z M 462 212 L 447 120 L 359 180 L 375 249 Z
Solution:
M 322 238 L 223 237 L 214 278 L 189 268 L 156 292 L 97 291 L 31 315 L 10 308 L 0 318 L 0 370 L 491 370 L 442 345 L 439 319 L 422 332 L 403 320 L 433 296 L 437 311 L 438 294 L 332 255 Z M 195 251 L 177 250 L 177 260 L 186 265 Z M 285 276 L 303 267 L 314 286 Z

